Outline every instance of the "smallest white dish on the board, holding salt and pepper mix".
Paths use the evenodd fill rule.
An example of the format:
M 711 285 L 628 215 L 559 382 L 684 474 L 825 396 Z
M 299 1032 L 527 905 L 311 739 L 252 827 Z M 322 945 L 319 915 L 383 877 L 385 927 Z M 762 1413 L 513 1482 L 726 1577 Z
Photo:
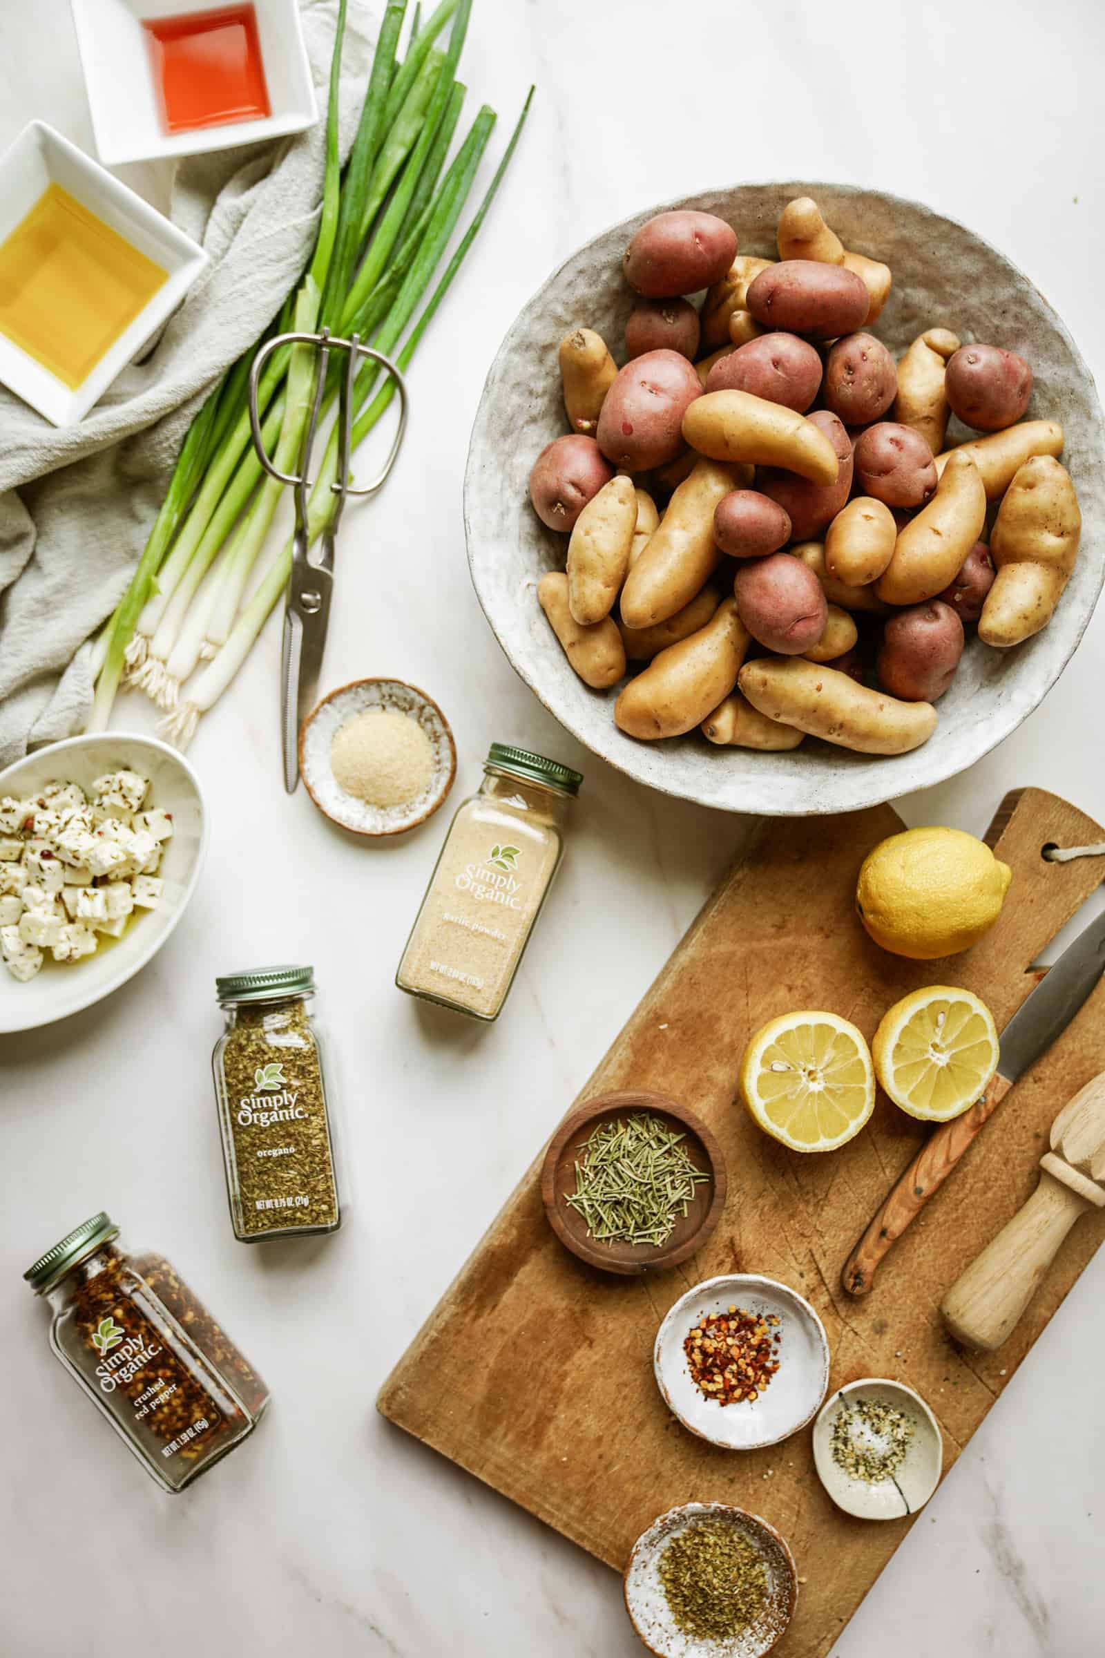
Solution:
M 822 1486 L 845 1514 L 900 1520 L 939 1486 L 944 1441 L 919 1393 L 903 1381 L 865 1376 L 827 1401 L 813 1426 Z

